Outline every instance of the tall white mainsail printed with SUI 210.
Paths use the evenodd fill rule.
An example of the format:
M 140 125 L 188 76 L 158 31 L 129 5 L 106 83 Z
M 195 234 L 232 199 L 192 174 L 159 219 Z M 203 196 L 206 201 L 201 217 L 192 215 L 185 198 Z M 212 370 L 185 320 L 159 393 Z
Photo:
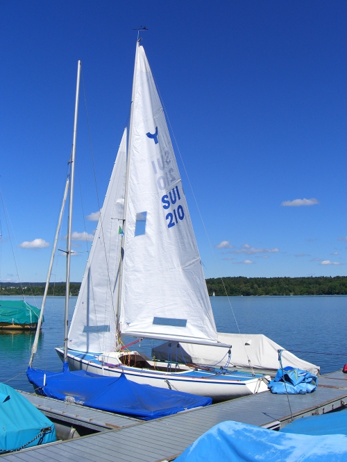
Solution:
M 217 343 L 174 149 L 139 45 L 134 78 L 121 334 Z

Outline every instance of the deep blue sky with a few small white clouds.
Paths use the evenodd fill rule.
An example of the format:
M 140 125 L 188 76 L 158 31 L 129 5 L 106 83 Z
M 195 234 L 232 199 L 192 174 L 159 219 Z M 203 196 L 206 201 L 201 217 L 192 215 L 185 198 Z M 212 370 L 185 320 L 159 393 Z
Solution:
M 128 121 L 140 25 L 213 248 L 178 159 L 205 276 L 346 275 L 346 13 L 334 0 L 2 1 L 0 187 L 19 277 L 46 277 L 78 59 L 102 202 Z M 86 217 L 98 210 L 83 90 L 76 155 L 82 240 L 71 279 L 80 281 L 82 233 L 96 226 Z M 0 280 L 15 281 L 0 213 Z M 64 272 L 58 257 L 53 280 Z

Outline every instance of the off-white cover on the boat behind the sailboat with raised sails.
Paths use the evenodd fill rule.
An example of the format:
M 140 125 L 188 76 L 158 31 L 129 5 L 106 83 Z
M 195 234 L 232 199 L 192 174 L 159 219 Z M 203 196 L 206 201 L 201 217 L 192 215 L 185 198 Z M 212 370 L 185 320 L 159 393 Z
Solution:
M 248 358 L 255 369 L 278 370 L 278 350 L 283 348 L 278 343 L 262 334 L 222 334 L 218 333 L 221 343 L 231 345 L 230 366 L 248 368 Z M 228 361 L 228 348 L 214 347 L 207 345 L 193 345 L 192 343 L 180 343 L 181 348 L 176 348 L 176 343 L 171 342 L 171 358 L 176 361 L 176 350 L 178 361 L 208 366 L 226 366 Z M 152 354 L 156 359 L 167 360 L 169 343 L 164 343 L 152 349 Z M 182 349 L 182 350 L 181 350 Z M 184 358 L 183 358 L 184 356 Z M 310 373 L 319 374 L 319 366 L 309 363 L 295 356 L 289 351 L 282 352 L 282 365 L 293 366 L 307 370 Z

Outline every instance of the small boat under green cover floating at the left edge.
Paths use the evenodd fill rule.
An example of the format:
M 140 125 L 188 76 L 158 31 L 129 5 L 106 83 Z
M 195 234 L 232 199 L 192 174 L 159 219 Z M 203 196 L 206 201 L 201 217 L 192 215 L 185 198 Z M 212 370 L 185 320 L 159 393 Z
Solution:
M 40 309 L 24 300 L 0 300 L 0 329 L 36 329 Z

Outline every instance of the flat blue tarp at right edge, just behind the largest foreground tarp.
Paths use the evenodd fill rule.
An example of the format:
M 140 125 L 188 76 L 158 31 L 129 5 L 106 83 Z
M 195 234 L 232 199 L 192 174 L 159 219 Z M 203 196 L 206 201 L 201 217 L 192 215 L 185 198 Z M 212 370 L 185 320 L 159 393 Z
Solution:
M 301 435 L 347 435 L 347 409 L 297 419 L 280 431 Z

